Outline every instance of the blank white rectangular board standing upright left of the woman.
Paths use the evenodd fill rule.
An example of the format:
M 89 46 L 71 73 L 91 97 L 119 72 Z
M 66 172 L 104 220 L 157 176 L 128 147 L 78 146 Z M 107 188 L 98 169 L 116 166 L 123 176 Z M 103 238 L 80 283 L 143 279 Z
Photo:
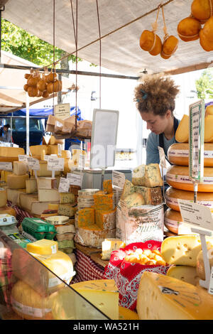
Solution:
M 104 169 L 114 166 L 118 125 L 119 111 L 94 109 L 90 168 Z

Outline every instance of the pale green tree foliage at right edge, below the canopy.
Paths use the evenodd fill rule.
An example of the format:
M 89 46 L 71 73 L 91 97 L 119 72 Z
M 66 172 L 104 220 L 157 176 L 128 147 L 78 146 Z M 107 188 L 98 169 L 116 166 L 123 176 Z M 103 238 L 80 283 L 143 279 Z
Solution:
M 207 68 L 202 75 L 195 81 L 197 97 L 199 99 L 212 99 L 213 97 L 213 70 Z

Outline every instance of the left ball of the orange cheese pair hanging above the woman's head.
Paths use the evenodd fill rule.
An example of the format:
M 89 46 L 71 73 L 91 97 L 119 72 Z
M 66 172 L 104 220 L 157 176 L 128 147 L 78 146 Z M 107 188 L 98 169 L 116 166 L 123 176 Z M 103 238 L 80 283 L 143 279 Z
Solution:
M 158 55 L 160 53 L 160 44 L 159 44 L 159 37 L 156 37 L 155 33 L 153 31 L 144 30 L 143 33 L 141 33 L 140 38 L 140 46 L 141 49 L 148 51 L 149 53 L 154 53 L 154 55 Z M 160 49 L 160 50 L 159 50 Z

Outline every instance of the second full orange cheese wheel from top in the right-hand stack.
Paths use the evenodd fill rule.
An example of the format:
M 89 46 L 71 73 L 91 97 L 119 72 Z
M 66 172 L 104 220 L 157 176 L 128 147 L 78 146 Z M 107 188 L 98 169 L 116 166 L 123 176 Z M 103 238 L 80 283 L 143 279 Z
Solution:
M 165 179 L 174 188 L 194 191 L 187 166 L 171 166 L 166 173 Z M 203 183 L 198 184 L 197 190 L 207 193 L 213 192 L 213 168 L 204 167 Z

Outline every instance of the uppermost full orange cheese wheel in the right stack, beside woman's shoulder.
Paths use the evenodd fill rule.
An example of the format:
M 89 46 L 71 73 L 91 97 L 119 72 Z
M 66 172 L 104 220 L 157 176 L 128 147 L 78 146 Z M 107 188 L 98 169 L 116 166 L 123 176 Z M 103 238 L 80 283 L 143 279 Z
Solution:
M 189 166 L 189 144 L 175 143 L 168 149 L 170 163 Z M 204 167 L 213 167 L 213 143 L 204 144 Z

